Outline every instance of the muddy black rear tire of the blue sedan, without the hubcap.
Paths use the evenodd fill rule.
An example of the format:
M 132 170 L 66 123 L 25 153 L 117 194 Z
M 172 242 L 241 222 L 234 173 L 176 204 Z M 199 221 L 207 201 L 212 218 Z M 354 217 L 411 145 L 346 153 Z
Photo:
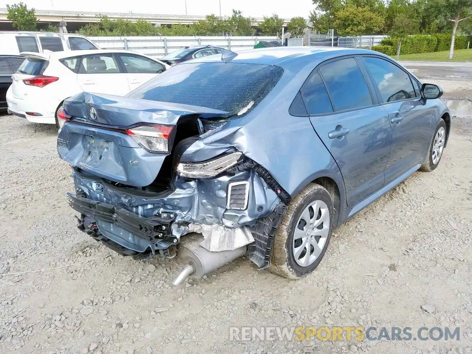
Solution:
M 295 261 L 293 253 L 295 228 L 297 227 L 296 224 L 299 222 L 305 208 L 317 200 L 324 202 L 328 207 L 328 236 L 326 237 L 320 255 L 315 259 L 315 261 L 306 267 L 302 267 Z M 333 222 L 334 209 L 331 196 L 323 186 L 310 183 L 303 188 L 303 190 L 297 194 L 288 205 L 287 212 L 285 213 L 274 237 L 269 270 L 289 279 L 303 278 L 308 273 L 312 272 L 318 264 L 320 264 L 321 259 L 326 253 L 329 239 L 331 237 L 331 231 L 333 229 Z

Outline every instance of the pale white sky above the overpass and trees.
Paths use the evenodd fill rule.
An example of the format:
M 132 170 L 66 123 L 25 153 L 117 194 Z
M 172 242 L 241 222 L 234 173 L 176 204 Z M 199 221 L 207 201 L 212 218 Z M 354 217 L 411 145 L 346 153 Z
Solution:
M 0 8 L 6 4 L 14 4 L 17 0 L 2 2 Z M 28 8 L 36 10 L 70 10 L 93 12 L 134 12 L 153 13 L 164 15 L 185 15 L 185 0 L 23 0 Z M 186 0 L 187 15 L 219 15 L 219 0 Z M 244 16 L 263 17 L 273 13 L 279 17 L 292 18 L 302 16 L 307 18 L 314 8 L 312 0 L 221 0 L 221 15 L 231 15 L 236 8 Z

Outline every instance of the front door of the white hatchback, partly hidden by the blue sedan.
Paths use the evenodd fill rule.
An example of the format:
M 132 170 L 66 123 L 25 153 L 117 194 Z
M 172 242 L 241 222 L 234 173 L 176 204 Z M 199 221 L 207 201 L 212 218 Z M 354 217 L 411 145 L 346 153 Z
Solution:
M 159 62 L 141 55 L 117 53 L 116 56 L 126 73 L 130 91 L 166 70 Z

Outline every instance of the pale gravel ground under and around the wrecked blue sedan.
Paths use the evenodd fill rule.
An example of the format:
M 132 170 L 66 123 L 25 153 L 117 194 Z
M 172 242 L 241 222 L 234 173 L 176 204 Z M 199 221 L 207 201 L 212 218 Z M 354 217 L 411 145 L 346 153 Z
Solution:
M 438 169 L 335 229 L 303 280 L 243 257 L 171 287 L 173 261 L 122 257 L 76 229 L 55 127 L 0 117 L 0 353 L 472 353 L 471 127 L 453 129 Z M 461 340 L 228 340 L 251 325 L 453 326 Z

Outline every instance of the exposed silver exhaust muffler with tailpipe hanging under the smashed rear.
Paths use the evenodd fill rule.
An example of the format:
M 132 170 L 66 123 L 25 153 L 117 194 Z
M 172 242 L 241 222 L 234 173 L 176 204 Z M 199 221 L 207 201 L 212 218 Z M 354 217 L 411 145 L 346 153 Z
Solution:
M 202 241 L 202 234 L 190 233 L 182 237 L 178 244 L 177 260 L 185 266 L 178 271 L 172 281 L 173 285 L 182 284 L 188 276 L 202 278 L 246 253 L 246 246 L 231 251 L 211 252 L 200 245 Z

